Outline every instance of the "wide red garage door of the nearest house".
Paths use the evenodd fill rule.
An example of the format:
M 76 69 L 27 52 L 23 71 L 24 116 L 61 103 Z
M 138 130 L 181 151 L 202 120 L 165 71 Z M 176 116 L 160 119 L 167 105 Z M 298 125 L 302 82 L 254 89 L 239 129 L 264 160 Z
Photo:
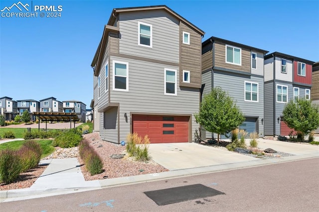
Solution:
M 151 143 L 188 142 L 188 116 L 133 115 L 133 132 Z

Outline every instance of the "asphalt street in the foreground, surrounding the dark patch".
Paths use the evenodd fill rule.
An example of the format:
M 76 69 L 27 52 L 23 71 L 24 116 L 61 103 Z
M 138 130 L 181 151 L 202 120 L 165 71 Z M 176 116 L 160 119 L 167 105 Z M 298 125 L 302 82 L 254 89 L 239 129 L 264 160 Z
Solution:
M 319 158 L 0 204 L 1 212 L 318 211 Z M 158 206 L 144 192 L 202 184 L 221 195 Z M 178 195 L 178 194 L 177 194 Z M 182 194 L 181 194 L 182 195 Z

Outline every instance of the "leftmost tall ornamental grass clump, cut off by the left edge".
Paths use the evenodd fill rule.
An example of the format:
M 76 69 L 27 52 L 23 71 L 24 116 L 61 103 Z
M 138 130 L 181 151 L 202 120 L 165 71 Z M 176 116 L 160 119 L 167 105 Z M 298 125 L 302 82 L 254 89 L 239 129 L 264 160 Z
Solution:
M 13 150 L 0 152 L 0 182 L 12 183 L 21 173 L 21 159 Z

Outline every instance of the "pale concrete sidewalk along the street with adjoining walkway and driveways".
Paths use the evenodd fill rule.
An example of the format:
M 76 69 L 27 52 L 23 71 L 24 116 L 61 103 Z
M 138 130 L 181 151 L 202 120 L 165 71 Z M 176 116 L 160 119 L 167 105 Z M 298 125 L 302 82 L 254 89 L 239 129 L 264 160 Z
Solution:
M 0 191 L 0 202 L 62 195 L 319 157 L 319 146 L 315 145 L 259 139 L 259 147 L 273 148 L 295 155 L 258 159 L 196 143 L 151 144 L 150 155 L 153 160 L 166 168 L 168 167 L 171 171 L 95 181 L 84 180 L 77 158 L 50 159 L 41 161 L 42 164 L 48 163 L 49 165 L 30 188 Z

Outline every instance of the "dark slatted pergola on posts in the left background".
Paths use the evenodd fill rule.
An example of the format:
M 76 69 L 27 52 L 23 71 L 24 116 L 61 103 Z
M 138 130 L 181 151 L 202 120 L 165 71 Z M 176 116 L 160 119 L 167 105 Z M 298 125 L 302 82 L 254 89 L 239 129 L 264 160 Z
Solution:
M 40 120 L 45 121 L 45 130 L 47 129 L 47 121 L 70 121 L 70 128 L 72 128 L 72 121 L 79 121 L 79 117 L 75 112 L 33 112 L 33 115 L 39 118 L 39 130 Z

